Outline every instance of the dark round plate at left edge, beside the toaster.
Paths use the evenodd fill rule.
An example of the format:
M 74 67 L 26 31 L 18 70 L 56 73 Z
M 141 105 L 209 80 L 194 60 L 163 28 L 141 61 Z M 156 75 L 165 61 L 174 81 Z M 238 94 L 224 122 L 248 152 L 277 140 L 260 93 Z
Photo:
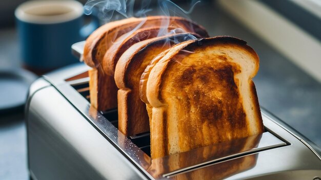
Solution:
M 23 69 L 0 70 L 0 115 L 23 110 L 29 86 L 36 78 Z

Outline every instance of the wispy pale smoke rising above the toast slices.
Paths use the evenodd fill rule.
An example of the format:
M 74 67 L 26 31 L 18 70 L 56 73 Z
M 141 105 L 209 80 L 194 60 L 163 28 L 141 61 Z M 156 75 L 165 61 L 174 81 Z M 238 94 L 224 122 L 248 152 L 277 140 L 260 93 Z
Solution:
M 190 8 L 188 10 L 184 10 L 170 0 L 158 0 L 156 7 L 156 9 L 158 10 L 157 15 L 168 17 L 181 16 L 188 18 L 188 14 L 193 11 L 198 3 L 200 3 L 200 1 L 192 0 Z M 88 0 L 88 2 L 84 6 L 84 11 L 87 15 L 95 13 L 95 15 L 97 15 L 98 18 L 102 21 L 109 22 L 111 20 L 118 20 L 129 17 L 146 17 L 148 13 L 153 13 L 155 15 L 155 10 L 150 8 L 150 4 L 151 0 L 141 0 L 139 1 L 139 4 L 135 3 L 135 0 Z M 113 39 L 113 43 L 121 43 L 125 38 L 129 37 L 136 30 L 141 28 L 144 23 L 145 21 L 143 20 L 130 32 L 126 33 L 118 39 Z M 157 36 L 159 37 L 185 32 L 180 28 L 169 30 L 168 27 L 170 26 L 170 19 L 164 18 L 164 20 L 162 20 L 162 22 L 160 23 L 161 28 L 159 29 Z M 192 34 L 185 34 L 184 36 L 174 36 L 172 38 L 168 38 L 165 43 L 174 42 L 175 44 L 177 44 L 186 40 L 195 39 L 197 38 Z

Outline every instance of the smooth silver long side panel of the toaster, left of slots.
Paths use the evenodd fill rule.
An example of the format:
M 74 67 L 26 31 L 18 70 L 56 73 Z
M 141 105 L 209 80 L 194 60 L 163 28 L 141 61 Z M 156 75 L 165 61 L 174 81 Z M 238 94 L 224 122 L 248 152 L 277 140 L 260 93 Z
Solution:
M 29 171 L 34 179 L 144 179 L 53 87 L 29 97 Z

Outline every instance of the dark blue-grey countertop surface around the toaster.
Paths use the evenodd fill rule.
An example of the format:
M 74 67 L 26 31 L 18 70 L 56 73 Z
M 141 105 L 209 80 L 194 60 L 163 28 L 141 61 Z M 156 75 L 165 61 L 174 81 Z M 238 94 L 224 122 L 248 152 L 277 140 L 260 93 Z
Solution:
M 321 146 L 321 84 L 216 5 L 191 14 L 211 36 L 242 38 L 260 57 L 254 82 L 261 106 Z M 21 65 L 15 29 L 0 29 L 0 68 Z M 321 65 L 320 65 L 321 66 Z M 0 179 L 28 179 L 26 126 L 23 114 L 0 117 Z

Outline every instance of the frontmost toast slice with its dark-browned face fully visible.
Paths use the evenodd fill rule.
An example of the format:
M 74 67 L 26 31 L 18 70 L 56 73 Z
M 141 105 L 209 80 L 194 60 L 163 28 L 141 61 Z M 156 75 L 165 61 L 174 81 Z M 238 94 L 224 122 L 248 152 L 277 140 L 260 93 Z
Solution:
M 262 133 L 252 81 L 258 64 L 245 41 L 228 36 L 171 48 L 150 70 L 146 84 L 152 157 Z

